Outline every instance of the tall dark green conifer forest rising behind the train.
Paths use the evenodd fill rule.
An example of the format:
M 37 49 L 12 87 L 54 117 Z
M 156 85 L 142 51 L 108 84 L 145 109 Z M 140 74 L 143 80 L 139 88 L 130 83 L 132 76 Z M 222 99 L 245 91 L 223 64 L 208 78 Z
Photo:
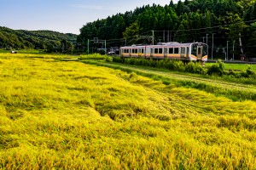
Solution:
M 154 32 L 153 32 L 154 31 Z M 154 38 L 153 38 L 154 33 Z M 143 6 L 125 14 L 87 23 L 78 42 L 98 37 L 108 46 L 156 42 L 207 42 L 209 52 L 228 55 L 256 55 L 255 0 L 185 0 L 162 7 Z M 233 53 L 234 43 L 234 53 Z M 227 49 L 228 46 L 228 49 Z M 209 53 L 211 56 L 211 53 Z

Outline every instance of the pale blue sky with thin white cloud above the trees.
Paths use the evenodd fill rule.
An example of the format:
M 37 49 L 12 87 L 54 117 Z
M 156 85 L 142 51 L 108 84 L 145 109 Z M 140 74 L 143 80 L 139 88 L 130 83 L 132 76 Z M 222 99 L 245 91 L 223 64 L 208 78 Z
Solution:
M 14 30 L 80 33 L 86 23 L 171 0 L 0 0 L 0 26 Z M 177 0 L 173 0 L 177 3 Z

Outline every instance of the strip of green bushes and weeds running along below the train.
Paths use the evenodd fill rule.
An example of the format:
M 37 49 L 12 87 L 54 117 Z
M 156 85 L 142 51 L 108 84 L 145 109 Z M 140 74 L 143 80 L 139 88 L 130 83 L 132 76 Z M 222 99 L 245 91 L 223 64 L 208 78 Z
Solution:
M 253 71 L 250 67 L 245 71 L 227 71 L 225 70 L 224 62 L 219 59 L 218 63 L 207 65 L 207 67 L 203 67 L 201 63 L 189 62 L 184 63 L 181 60 L 175 59 L 143 59 L 143 58 L 121 58 L 121 57 L 113 57 L 113 62 L 117 63 L 125 63 L 128 65 L 143 65 L 157 68 L 166 68 L 171 71 L 183 71 L 193 74 L 201 74 L 201 75 L 209 75 L 209 76 L 218 76 L 225 77 L 226 79 L 232 78 L 247 78 L 243 82 L 255 84 L 255 71 Z M 237 82 L 236 80 L 232 80 Z

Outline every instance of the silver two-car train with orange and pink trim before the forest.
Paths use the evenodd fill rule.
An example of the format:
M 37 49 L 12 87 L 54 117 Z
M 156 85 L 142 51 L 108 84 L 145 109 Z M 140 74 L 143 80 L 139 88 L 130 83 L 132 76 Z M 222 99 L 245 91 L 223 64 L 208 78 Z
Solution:
M 207 61 L 208 45 L 203 42 L 159 42 L 156 45 L 131 45 L 119 49 L 123 58 L 180 59 Z

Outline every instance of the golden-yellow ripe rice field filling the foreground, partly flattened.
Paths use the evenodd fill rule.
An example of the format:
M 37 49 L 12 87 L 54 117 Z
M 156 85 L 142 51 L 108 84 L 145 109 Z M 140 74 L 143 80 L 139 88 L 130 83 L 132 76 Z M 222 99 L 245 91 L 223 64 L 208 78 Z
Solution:
M 255 169 L 256 103 L 0 54 L 0 169 Z

